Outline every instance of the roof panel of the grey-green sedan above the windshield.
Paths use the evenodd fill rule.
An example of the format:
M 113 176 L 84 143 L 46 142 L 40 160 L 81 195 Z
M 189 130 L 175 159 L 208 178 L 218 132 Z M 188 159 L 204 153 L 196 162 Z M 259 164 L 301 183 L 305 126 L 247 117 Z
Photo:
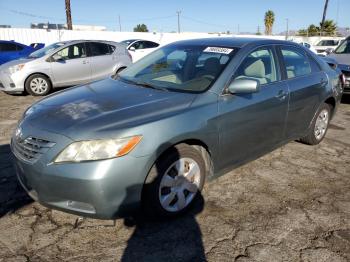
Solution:
M 189 44 L 189 45 L 211 45 L 211 46 L 221 46 L 221 47 L 238 47 L 241 48 L 248 44 L 288 44 L 296 45 L 296 43 L 285 40 L 275 40 L 267 38 L 247 38 L 247 37 L 213 37 L 213 38 L 201 38 L 201 39 L 191 39 L 182 40 L 176 42 L 177 44 Z

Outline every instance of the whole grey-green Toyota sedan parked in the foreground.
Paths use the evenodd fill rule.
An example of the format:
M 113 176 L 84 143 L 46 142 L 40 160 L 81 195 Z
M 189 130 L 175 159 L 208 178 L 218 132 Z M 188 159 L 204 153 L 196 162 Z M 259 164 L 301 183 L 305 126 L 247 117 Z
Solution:
M 15 170 L 48 207 L 173 216 L 206 179 L 292 140 L 320 143 L 340 99 L 339 73 L 296 43 L 181 41 L 33 104 L 11 141 Z

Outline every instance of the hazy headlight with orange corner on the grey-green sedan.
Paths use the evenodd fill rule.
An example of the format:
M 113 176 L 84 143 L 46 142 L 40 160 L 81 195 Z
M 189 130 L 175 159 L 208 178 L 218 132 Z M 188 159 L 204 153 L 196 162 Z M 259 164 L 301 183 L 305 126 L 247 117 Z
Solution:
M 124 156 L 134 149 L 141 138 L 142 136 L 133 136 L 74 142 L 59 153 L 54 162 L 81 162 Z

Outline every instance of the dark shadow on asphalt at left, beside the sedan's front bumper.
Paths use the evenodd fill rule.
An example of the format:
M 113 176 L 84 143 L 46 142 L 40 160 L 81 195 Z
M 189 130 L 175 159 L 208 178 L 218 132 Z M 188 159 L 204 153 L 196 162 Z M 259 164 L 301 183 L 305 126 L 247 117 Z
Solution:
M 19 184 L 10 145 L 0 145 L 0 217 L 32 202 Z

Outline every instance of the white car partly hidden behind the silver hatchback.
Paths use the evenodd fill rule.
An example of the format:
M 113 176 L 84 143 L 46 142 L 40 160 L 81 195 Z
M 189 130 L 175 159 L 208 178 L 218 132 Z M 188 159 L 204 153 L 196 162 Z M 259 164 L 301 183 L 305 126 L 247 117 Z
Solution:
M 121 41 L 120 43 L 127 45 L 127 49 L 132 56 L 133 62 L 136 62 L 145 55 L 153 52 L 159 46 L 159 44 L 156 42 L 141 39 L 128 39 Z

